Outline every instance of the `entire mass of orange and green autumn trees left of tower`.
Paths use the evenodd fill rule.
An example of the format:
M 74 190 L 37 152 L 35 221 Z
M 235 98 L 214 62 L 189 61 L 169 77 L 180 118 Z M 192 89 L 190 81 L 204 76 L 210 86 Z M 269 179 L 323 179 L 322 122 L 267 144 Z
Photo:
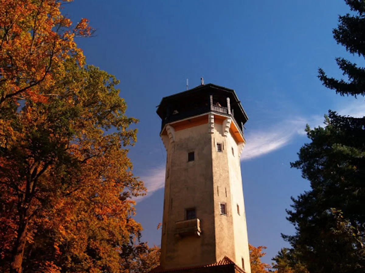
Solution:
M 87 20 L 71 28 L 60 5 L 0 0 L 0 271 L 128 272 L 126 246 L 153 267 L 133 219 L 137 120 L 118 80 L 84 66 Z

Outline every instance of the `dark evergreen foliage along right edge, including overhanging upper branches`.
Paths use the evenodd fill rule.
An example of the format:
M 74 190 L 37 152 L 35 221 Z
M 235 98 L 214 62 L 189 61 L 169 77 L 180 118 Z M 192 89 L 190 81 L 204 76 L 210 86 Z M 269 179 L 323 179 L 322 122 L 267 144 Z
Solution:
M 339 16 L 334 39 L 351 54 L 365 56 L 365 2 L 346 0 L 352 14 Z M 336 62 L 347 79 L 335 79 L 319 69 L 323 85 L 340 95 L 365 95 L 365 68 L 344 58 Z M 365 117 L 329 111 L 324 127 L 310 128 L 291 166 L 300 169 L 311 190 L 292 198 L 288 220 L 293 236 L 283 238 L 291 249 L 274 258 L 289 266 L 300 263 L 311 273 L 365 270 Z

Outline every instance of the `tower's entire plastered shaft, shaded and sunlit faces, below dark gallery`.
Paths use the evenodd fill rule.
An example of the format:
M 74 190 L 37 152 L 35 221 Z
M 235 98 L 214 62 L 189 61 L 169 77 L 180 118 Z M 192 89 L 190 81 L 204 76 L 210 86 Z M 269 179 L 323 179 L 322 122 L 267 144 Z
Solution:
M 212 119 L 192 127 L 171 127 L 162 135 L 167 150 L 161 266 L 164 269 L 213 264 L 229 257 L 250 273 L 245 206 L 237 143 L 230 120 Z M 223 123 L 223 124 L 222 124 Z M 216 144 L 222 151 L 218 152 Z M 234 153 L 232 154 L 232 148 Z M 188 162 L 188 153 L 195 160 Z M 220 204 L 226 214 L 220 213 Z M 239 214 L 237 210 L 239 206 Z M 201 234 L 181 237 L 176 222 L 195 207 Z

